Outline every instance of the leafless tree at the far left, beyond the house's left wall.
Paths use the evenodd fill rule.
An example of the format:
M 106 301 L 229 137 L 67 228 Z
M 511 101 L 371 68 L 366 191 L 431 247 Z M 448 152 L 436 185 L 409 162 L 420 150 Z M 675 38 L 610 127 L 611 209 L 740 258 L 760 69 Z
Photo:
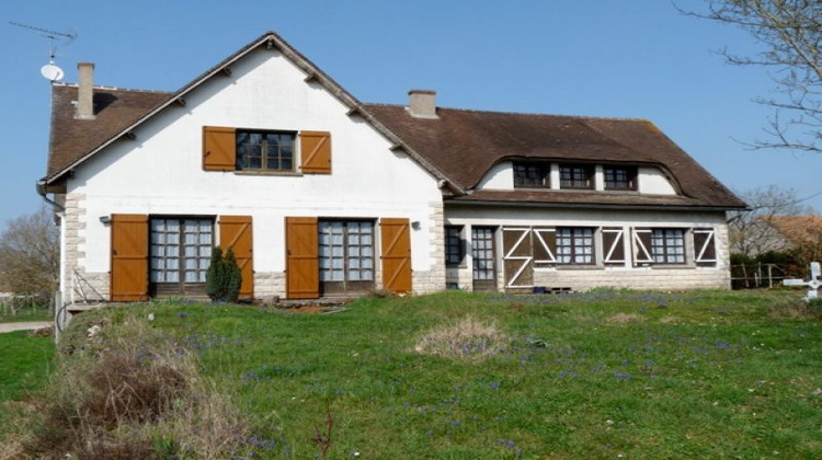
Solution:
M 7 222 L 0 234 L 0 284 L 5 289 L 48 298 L 59 268 L 59 230 L 48 208 Z

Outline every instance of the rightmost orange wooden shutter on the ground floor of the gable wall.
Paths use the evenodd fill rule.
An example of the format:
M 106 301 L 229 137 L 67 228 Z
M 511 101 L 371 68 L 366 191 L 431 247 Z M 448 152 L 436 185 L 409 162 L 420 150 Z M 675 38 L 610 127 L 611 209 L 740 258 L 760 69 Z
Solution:
M 383 288 L 411 291 L 411 226 L 408 219 L 380 220 Z

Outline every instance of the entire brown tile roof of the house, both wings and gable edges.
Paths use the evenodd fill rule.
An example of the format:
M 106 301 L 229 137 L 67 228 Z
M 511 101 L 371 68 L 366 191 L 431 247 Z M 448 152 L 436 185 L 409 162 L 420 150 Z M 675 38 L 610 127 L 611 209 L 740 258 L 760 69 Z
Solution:
M 463 195 L 506 158 L 654 164 L 670 174 L 684 197 L 650 198 L 638 194 L 510 193 L 532 203 L 613 203 L 628 206 L 676 205 L 741 208 L 745 204 L 682 151 L 651 123 L 555 115 L 529 115 L 437 108 L 438 119 L 413 118 L 398 105 L 362 104 L 321 69 L 273 32 L 266 32 L 174 93 L 95 88 L 96 119 L 75 119 L 77 87 L 53 87 L 52 136 L 46 182 L 93 156 L 109 142 L 184 97 L 258 47 L 274 47 L 310 78 L 358 113 L 422 168 Z M 492 194 L 493 195 L 493 194 Z M 472 194 L 475 200 L 501 195 Z M 603 196 L 595 196 L 603 195 Z M 607 195 L 607 196 L 606 196 Z M 459 198 L 459 199 L 469 199 Z

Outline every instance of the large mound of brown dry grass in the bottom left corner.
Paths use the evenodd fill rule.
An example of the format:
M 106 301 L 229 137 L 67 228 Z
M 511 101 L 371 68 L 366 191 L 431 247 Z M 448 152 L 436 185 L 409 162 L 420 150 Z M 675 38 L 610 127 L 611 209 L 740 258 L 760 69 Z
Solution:
M 88 353 L 61 357 L 45 398 L 21 407 L 0 458 L 218 459 L 250 449 L 231 399 L 145 321 L 127 318 L 87 340 Z

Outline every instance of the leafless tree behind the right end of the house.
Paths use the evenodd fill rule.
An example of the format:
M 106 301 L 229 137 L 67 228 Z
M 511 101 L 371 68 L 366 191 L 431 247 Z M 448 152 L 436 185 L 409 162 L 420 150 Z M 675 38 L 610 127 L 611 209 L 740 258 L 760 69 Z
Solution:
M 773 216 L 813 214 L 813 208 L 800 204 L 796 192 L 770 185 L 738 193 L 751 207 L 749 211 L 729 214 L 731 253 L 753 257 L 768 251 L 789 249 L 785 239 L 770 226 Z

